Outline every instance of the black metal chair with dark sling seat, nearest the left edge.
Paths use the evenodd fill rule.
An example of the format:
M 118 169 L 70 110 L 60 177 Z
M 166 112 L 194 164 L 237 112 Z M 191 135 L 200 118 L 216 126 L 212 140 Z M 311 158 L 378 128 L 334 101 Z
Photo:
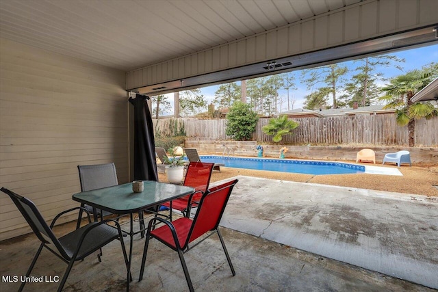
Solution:
M 28 278 L 31 274 L 32 269 L 40 256 L 42 248 L 47 248 L 50 252 L 55 254 L 58 258 L 60 258 L 64 263 L 68 264 L 66 272 L 60 281 L 60 285 L 57 288 L 57 291 L 62 291 L 64 284 L 68 278 L 68 274 L 73 267 L 75 261 L 81 261 L 86 256 L 93 254 L 97 250 L 101 249 L 103 246 L 112 242 L 114 239 L 118 239 L 122 246 L 123 257 L 125 258 L 125 265 L 128 271 L 128 258 L 125 250 L 125 244 L 123 243 L 123 235 L 120 229 L 120 225 L 115 220 L 103 220 L 101 222 L 91 222 L 90 213 L 87 209 L 83 207 L 75 207 L 72 209 L 68 209 L 59 213 L 53 218 L 50 226 L 44 221 L 40 211 L 38 211 L 34 202 L 20 196 L 9 189 L 2 187 L 0 189 L 3 193 L 10 196 L 12 202 L 16 205 L 18 210 L 21 212 L 25 220 L 29 224 L 29 226 L 34 231 L 36 237 L 41 241 L 40 248 L 36 252 L 34 256 L 34 260 L 32 261 L 29 269 L 27 270 L 26 277 Z M 62 215 L 77 210 L 82 209 L 88 215 L 88 224 L 79 229 L 68 233 L 60 238 L 57 238 L 52 231 L 53 226 L 55 225 L 56 220 Z M 113 222 L 115 227 L 107 225 L 107 222 Z M 20 289 L 18 291 L 23 291 L 25 287 L 26 281 L 21 283 Z M 129 290 L 129 278 L 127 277 L 127 291 Z

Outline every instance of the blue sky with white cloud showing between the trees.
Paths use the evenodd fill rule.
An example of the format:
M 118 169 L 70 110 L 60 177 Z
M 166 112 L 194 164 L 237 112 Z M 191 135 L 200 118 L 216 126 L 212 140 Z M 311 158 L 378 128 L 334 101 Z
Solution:
M 389 55 L 396 55 L 399 58 L 405 59 L 404 63 L 401 63 L 403 70 L 400 71 L 397 68 L 381 68 L 378 71 L 382 72 L 385 78 L 389 79 L 391 77 L 396 77 L 398 75 L 402 75 L 410 70 L 420 69 L 422 66 L 426 64 L 430 64 L 433 62 L 438 62 L 438 44 L 434 44 L 431 46 L 421 47 L 417 49 L 408 49 L 404 51 L 399 51 L 396 53 L 390 53 Z M 354 68 L 359 66 L 359 64 L 353 61 L 342 62 L 344 66 L 347 66 L 350 69 L 350 76 L 355 73 L 353 72 Z M 294 90 L 292 92 L 292 96 L 295 99 L 294 109 L 301 108 L 304 101 L 305 96 L 309 94 L 306 86 L 300 82 L 301 71 L 294 71 L 294 75 L 296 77 L 296 87 L 298 90 Z M 240 84 L 240 82 L 237 82 Z M 379 83 L 378 83 L 379 84 Z M 385 82 L 381 82 L 381 85 L 384 85 Z M 216 90 L 218 90 L 219 85 L 209 86 L 205 88 L 201 88 L 201 92 L 204 94 L 208 103 L 211 103 L 214 99 L 214 94 Z M 289 91 L 290 92 L 290 91 Z M 287 92 L 285 90 L 279 91 L 279 96 L 287 96 Z M 168 100 L 173 106 L 173 94 L 169 95 L 170 98 Z M 287 104 L 283 105 L 283 111 L 287 110 Z M 292 109 L 292 108 L 291 108 Z

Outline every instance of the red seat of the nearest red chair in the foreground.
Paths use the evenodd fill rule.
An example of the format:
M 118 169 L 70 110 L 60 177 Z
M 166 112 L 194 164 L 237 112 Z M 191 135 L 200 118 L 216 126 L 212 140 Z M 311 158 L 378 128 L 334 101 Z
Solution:
M 179 218 L 172 222 L 175 230 L 177 231 L 177 238 L 181 247 L 184 245 L 185 240 L 188 237 L 190 226 L 192 226 L 192 220 L 187 217 Z M 172 232 L 167 225 L 161 226 L 151 231 L 151 235 L 157 239 L 168 243 L 173 248 L 177 248 L 175 241 L 173 240 Z

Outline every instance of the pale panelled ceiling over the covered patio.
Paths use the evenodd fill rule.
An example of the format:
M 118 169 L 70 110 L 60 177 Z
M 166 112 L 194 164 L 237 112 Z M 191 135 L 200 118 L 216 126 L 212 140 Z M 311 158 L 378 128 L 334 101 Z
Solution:
M 361 0 L 0 0 L 0 36 L 133 70 Z

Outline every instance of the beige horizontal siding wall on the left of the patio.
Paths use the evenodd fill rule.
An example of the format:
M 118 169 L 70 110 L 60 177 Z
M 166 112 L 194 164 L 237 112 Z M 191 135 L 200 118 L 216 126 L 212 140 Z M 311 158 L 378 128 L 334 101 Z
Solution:
M 0 186 L 45 219 L 78 206 L 77 165 L 114 161 L 128 181 L 125 72 L 0 40 Z M 29 232 L 0 193 L 0 240 Z

